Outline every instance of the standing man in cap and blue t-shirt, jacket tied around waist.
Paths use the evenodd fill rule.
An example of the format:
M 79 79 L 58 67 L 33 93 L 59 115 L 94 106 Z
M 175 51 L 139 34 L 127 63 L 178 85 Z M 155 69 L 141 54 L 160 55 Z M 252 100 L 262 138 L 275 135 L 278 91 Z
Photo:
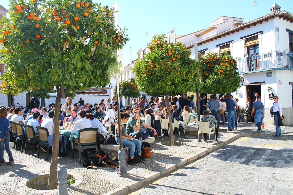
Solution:
M 258 130 L 257 133 L 261 132 L 261 126 L 263 125 L 263 113 L 265 112 L 265 107 L 263 106 L 263 103 L 260 102 L 260 96 L 256 97 L 255 102 L 252 104 L 252 110 L 251 110 L 251 117 L 254 117 L 255 125 L 257 126 Z M 255 111 L 255 114 L 253 116 L 253 112 Z

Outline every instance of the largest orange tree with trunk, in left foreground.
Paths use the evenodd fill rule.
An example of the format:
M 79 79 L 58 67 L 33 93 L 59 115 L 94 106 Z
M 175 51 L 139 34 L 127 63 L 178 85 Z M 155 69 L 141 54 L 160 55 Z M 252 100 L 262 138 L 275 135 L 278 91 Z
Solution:
M 55 86 L 55 105 L 67 92 L 105 86 L 119 69 L 116 51 L 128 38 L 114 25 L 113 11 L 90 0 L 10 0 L 1 20 L 1 76 L 22 92 Z M 4 49 L 6 48 L 6 49 Z M 55 110 L 49 189 L 57 187 L 59 110 Z

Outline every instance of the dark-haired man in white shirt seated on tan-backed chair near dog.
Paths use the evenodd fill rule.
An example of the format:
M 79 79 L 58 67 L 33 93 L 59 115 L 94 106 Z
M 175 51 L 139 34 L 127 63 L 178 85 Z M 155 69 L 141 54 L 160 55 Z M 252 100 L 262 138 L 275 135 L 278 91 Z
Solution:
M 92 126 L 91 121 L 86 118 L 85 110 L 81 110 L 78 113 L 81 119 L 76 121 L 74 127 L 69 132 L 64 133 L 64 135 L 69 136 L 69 140 L 71 142 L 72 142 L 72 136 L 75 136 L 78 138 L 78 130 Z

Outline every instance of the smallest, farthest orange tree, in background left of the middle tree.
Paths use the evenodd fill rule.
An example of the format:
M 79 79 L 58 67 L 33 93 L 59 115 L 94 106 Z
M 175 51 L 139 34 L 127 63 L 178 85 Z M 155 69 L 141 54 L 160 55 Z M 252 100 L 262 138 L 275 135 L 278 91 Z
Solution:
M 130 97 L 140 96 L 140 91 L 137 88 L 134 78 L 127 81 L 121 81 L 119 83 L 119 94 L 122 97 L 128 97 L 128 104 L 130 105 Z M 117 96 L 116 88 L 114 89 L 114 95 Z

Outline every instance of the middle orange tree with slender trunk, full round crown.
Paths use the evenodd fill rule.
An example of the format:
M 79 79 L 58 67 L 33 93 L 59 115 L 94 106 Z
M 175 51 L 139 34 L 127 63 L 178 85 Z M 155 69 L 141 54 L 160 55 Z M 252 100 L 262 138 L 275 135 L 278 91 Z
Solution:
M 182 43 L 168 43 L 164 35 L 154 36 L 148 45 L 150 52 L 134 65 L 139 89 L 148 95 L 166 96 L 195 92 L 199 85 L 199 67 L 190 58 L 190 49 Z M 167 106 L 171 146 L 174 146 L 170 108 Z

